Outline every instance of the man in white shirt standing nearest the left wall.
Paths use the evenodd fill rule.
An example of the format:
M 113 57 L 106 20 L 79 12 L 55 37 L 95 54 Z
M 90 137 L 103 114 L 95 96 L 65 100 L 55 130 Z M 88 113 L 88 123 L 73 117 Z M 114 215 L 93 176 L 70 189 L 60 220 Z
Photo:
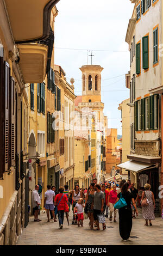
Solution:
M 38 191 L 39 191 L 39 185 L 35 185 L 35 190 L 32 192 L 32 206 L 34 209 L 34 221 L 41 221 L 38 218 L 39 211 L 40 211 L 40 204 L 41 204 L 41 199 Z

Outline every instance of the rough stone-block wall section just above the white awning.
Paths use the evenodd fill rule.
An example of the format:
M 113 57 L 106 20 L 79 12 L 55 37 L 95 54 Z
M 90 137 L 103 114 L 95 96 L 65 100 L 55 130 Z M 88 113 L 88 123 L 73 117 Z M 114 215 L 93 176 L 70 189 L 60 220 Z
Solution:
M 135 141 L 135 154 L 143 156 L 159 157 L 159 141 Z

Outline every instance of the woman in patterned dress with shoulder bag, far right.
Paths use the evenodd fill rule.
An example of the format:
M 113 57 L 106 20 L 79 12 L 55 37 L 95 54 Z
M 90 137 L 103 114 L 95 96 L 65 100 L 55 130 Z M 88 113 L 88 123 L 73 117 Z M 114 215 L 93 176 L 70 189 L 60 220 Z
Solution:
M 142 206 L 142 216 L 146 221 L 145 225 L 148 226 L 148 220 L 149 220 L 149 225 L 152 226 L 151 220 L 155 219 L 155 216 L 154 216 L 154 209 L 155 209 L 154 194 L 152 191 L 150 191 L 151 190 L 150 184 L 145 184 L 144 188 L 145 188 L 145 191 L 143 191 L 143 193 L 142 193 L 141 200 L 143 200 L 144 198 L 147 198 L 148 205 Z

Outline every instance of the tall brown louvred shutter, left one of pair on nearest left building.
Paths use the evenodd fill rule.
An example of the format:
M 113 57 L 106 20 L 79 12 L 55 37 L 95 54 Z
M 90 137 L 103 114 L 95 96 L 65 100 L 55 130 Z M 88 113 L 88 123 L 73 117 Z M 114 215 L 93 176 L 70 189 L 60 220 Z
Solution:
M 4 164 L 5 171 L 9 167 L 9 64 L 4 62 L 4 90 L 5 90 L 5 126 L 4 126 Z

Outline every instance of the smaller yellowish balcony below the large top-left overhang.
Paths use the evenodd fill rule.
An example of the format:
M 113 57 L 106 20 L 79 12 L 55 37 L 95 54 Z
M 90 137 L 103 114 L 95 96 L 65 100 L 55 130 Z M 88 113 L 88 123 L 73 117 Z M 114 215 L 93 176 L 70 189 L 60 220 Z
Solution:
M 42 83 L 46 76 L 48 46 L 41 44 L 21 44 L 20 69 L 24 83 Z

